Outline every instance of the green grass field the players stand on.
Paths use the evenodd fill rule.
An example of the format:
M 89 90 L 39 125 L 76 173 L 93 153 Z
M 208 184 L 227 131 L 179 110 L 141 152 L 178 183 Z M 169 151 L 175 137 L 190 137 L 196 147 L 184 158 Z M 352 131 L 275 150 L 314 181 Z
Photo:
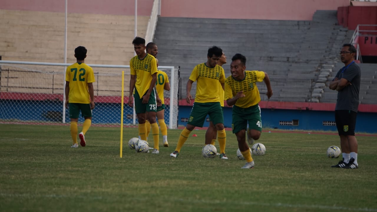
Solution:
M 130 150 L 137 128 L 124 128 L 120 158 L 120 128 L 91 127 L 71 149 L 68 125 L 1 124 L 0 211 L 377 211 L 376 136 L 357 136 L 360 168 L 348 170 L 326 158 L 335 134 L 264 132 L 267 153 L 245 170 L 230 131 L 226 161 L 202 157 L 204 130 L 170 158 L 180 132 L 152 155 Z

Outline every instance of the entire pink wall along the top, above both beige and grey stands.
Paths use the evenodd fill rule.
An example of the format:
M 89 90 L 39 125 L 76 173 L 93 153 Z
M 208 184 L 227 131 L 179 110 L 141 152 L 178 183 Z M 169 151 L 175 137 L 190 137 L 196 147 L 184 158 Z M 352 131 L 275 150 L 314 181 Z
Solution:
M 150 15 L 153 0 L 138 0 L 138 15 Z M 162 17 L 312 20 L 317 9 L 337 10 L 349 0 L 161 0 Z M 64 12 L 64 0 L 1 0 L 0 9 Z M 135 0 L 68 0 L 68 12 L 133 15 Z

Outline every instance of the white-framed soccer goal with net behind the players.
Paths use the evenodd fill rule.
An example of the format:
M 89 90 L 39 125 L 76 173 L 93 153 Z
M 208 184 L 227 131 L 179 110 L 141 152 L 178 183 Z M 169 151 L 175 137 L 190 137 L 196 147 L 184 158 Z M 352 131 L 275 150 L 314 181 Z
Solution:
M 0 60 L 0 123 L 64 124 L 69 110 L 64 107 L 67 63 L 16 62 Z M 122 71 L 124 71 L 123 125 L 138 124 L 135 111 L 127 105 L 130 69 L 128 65 L 93 65 L 95 75 L 92 125 L 121 125 Z M 178 127 L 179 69 L 158 67 L 167 73 L 170 91 L 164 92 L 165 122 Z M 79 118 L 79 124 L 84 118 Z

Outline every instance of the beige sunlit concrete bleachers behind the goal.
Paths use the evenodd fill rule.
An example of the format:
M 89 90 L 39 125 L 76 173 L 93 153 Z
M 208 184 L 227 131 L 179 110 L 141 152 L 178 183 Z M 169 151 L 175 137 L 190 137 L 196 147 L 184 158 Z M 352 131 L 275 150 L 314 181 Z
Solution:
M 87 63 L 129 65 L 134 56 L 135 17 L 69 13 L 67 62 L 74 49 L 88 49 Z M 149 16 L 138 16 L 138 36 L 144 37 Z M 2 60 L 64 62 L 65 18 L 61 12 L 0 10 Z

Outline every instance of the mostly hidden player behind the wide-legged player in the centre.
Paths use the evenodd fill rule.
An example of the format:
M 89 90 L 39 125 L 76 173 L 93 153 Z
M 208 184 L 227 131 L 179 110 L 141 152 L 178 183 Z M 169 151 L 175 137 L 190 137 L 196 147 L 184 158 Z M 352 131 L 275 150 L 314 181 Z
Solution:
M 225 63 L 227 63 L 227 56 L 225 56 L 225 53 L 223 52 L 219 61 L 217 62 L 217 65 L 222 66 Z M 222 111 L 224 112 L 224 89 L 221 86 L 221 83 L 218 83 L 219 85 L 219 97 L 220 97 L 220 105 L 222 108 Z M 210 120 L 210 125 L 207 128 L 207 131 L 205 132 L 205 144 L 212 144 L 215 145 L 216 142 L 216 136 L 217 136 L 217 130 L 215 125 L 213 125 L 212 121 Z M 220 152 L 225 152 L 225 143 L 221 143 L 220 145 Z M 221 154 L 221 159 L 228 159 L 227 155 Z

